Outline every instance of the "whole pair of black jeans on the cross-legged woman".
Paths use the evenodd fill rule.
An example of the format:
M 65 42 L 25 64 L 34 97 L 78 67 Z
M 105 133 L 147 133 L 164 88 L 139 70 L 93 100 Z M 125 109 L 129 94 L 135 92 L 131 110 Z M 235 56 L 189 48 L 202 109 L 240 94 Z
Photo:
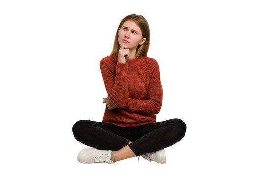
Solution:
M 77 141 L 100 150 L 117 151 L 129 144 L 136 156 L 155 152 L 180 141 L 186 124 L 180 119 L 149 123 L 138 127 L 119 127 L 111 123 L 80 120 L 72 131 Z

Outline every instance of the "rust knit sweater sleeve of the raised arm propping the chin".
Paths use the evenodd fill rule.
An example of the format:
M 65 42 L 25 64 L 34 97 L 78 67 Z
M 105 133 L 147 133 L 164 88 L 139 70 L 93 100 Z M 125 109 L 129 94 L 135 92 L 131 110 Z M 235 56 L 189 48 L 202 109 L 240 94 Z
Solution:
M 101 60 L 100 69 L 111 102 L 117 108 L 124 108 L 129 98 L 127 80 L 128 64 L 117 62 L 116 74 L 114 75 L 106 63 Z

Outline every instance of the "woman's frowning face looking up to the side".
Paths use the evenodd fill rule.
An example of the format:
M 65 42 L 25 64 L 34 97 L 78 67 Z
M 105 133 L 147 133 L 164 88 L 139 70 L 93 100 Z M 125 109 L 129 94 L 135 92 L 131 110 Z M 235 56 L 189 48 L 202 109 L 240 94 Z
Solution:
M 144 44 L 145 41 L 139 26 L 131 20 L 124 22 L 119 29 L 118 43 L 120 46 L 125 44 L 129 49 L 134 49 L 138 44 Z

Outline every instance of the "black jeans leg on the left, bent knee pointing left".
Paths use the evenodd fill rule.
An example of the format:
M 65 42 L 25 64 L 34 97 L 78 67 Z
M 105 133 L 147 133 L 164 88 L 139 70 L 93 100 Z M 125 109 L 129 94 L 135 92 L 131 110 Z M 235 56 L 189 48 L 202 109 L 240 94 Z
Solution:
M 110 123 L 80 120 L 72 132 L 77 141 L 100 150 L 117 151 L 129 144 L 124 130 Z

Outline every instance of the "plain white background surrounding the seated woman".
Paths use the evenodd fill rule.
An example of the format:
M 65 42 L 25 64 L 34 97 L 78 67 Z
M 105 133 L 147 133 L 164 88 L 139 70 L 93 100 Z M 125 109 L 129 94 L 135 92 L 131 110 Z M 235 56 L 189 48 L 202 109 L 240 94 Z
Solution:
M 261 0 L 1 0 L 0 175 L 263 176 L 263 9 Z M 99 62 L 130 14 L 150 26 L 157 122 L 180 118 L 187 131 L 165 149 L 166 164 L 81 164 L 87 146 L 72 126 L 102 120 Z

